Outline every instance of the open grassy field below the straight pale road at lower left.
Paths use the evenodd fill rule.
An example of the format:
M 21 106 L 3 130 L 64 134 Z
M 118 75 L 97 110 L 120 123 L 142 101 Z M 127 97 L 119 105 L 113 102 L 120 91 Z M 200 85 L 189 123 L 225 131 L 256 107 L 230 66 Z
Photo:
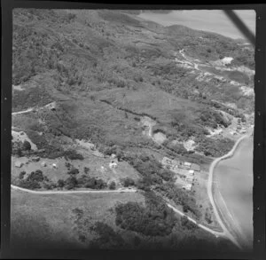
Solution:
M 114 204 L 144 201 L 139 193 L 39 195 L 12 190 L 11 236 L 14 248 L 86 248 L 95 238 L 90 226 L 114 224 Z M 76 209 L 84 219 L 78 221 Z M 85 221 L 87 219 L 87 221 Z M 79 240 L 84 235 L 85 242 Z

